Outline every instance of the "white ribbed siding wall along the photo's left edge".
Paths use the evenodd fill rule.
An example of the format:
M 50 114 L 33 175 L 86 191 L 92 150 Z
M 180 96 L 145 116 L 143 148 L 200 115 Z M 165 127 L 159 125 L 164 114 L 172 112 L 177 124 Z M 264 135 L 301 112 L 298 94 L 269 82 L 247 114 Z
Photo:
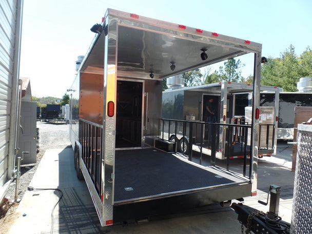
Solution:
M 0 2 L 0 201 L 13 178 L 18 155 L 22 14 L 23 0 Z

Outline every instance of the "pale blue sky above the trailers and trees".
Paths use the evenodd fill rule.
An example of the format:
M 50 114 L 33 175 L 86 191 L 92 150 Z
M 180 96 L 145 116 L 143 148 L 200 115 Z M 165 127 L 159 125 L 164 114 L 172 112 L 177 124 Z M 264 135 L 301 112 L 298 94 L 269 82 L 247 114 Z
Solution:
M 19 74 L 30 78 L 32 95 L 66 93 L 77 56 L 94 37 L 90 28 L 107 8 L 261 43 L 263 56 L 280 57 L 290 44 L 297 55 L 312 48 L 310 0 L 24 0 Z M 250 59 L 242 59 L 244 76 L 252 71 Z

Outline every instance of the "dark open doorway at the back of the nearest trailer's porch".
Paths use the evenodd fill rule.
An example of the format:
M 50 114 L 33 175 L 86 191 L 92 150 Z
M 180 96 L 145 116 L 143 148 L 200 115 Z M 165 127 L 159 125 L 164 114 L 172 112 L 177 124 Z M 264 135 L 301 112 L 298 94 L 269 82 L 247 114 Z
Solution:
M 117 82 L 116 148 L 142 145 L 142 93 L 142 82 Z

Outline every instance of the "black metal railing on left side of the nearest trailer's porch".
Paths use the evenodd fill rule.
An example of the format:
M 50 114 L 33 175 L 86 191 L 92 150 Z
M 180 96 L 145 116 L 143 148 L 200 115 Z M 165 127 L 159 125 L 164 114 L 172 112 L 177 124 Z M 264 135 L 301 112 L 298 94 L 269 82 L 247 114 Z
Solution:
M 102 131 L 102 125 L 79 120 L 82 159 L 99 195 L 101 192 Z

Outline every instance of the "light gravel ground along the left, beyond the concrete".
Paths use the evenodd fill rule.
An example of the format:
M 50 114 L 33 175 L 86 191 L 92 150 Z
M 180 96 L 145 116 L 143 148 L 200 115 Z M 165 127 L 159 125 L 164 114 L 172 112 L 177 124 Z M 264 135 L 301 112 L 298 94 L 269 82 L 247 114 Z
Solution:
M 36 164 L 22 165 L 21 166 L 21 177 L 19 179 L 18 199 L 21 200 L 24 196 L 25 191 L 47 149 L 65 148 L 70 147 L 69 141 L 69 129 L 67 124 L 47 124 L 44 122 L 37 122 L 37 128 L 39 128 L 39 152 L 37 153 Z M 23 164 L 23 161 L 22 161 Z M 17 208 L 17 203 L 14 201 L 15 194 L 15 181 L 9 186 L 4 202 L 0 207 L 0 226 L 4 220 L 9 219 Z

